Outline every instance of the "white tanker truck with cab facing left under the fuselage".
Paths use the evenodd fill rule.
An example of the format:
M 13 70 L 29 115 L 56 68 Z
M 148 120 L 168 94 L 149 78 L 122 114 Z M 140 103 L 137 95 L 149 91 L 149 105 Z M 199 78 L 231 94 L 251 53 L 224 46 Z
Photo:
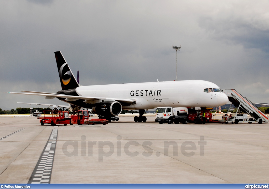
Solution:
M 180 122 L 186 124 L 188 122 L 189 112 L 188 108 L 179 107 L 179 108 L 172 108 L 172 107 L 158 107 L 156 108 L 156 118 L 155 122 L 178 124 Z

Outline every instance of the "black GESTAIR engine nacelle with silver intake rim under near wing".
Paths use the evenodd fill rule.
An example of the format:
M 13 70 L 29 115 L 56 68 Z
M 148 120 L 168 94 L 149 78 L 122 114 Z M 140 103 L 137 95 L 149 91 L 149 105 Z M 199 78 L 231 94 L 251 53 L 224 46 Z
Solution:
M 91 111 L 94 114 L 114 117 L 121 113 L 122 106 L 121 106 L 121 103 L 117 101 L 102 102 L 102 103 L 93 105 L 93 109 Z

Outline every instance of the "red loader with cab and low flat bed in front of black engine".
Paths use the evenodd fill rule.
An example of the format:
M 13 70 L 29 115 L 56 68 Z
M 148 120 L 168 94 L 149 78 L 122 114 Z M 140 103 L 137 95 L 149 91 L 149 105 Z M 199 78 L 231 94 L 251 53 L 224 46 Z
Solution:
M 89 125 L 89 124 L 107 124 L 108 120 L 106 119 L 89 119 L 90 115 L 87 110 L 76 111 L 75 114 L 71 115 L 70 125 Z

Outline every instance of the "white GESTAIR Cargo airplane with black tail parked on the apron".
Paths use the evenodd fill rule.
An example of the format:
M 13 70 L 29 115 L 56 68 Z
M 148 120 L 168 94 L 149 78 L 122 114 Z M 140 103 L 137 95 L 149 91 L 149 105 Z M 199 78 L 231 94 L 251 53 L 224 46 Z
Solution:
M 220 87 L 208 81 L 165 81 L 112 85 L 80 85 L 60 51 L 54 52 L 62 90 L 56 93 L 22 91 L 14 94 L 39 95 L 45 99 L 58 98 L 71 104 L 70 109 L 90 108 L 108 120 L 122 110 L 139 110 L 135 122 L 146 122 L 145 109 L 160 106 L 217 107 L 228 102 Z

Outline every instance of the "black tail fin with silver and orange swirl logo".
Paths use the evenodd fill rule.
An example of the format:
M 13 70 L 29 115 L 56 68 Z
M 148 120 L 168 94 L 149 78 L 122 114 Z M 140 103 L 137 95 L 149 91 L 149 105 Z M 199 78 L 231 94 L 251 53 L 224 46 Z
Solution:
M 76 78 L 65 61 L 61 51 L 54 52 L 62 90 L 75 89 L 79 86 Z

